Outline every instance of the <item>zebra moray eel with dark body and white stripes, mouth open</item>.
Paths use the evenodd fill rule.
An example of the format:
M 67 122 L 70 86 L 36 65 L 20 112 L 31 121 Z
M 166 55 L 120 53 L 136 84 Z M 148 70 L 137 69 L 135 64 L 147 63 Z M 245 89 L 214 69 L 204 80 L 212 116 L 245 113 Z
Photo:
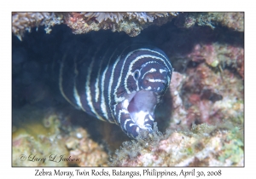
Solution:
M 118 124 L 127 136 L 152 131 L 154 109 L 172 78 L 166 54 L 129 42 L 84 49 L 63 57 L 59 88 L 64 98 L 96 118 Z

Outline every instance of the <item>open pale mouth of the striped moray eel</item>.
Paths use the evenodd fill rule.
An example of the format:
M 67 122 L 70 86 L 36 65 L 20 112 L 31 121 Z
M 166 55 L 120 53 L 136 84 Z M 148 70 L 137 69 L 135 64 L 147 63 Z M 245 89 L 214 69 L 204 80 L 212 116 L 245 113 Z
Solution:
M 152 130 L 154 123 L 154 108 L 156 107 L 158 97 L 157 93 L 148 90 L 140 90 L 126 98 L 128 106 L 126 109 L 130 113 L 131 120 L 139 128 Z

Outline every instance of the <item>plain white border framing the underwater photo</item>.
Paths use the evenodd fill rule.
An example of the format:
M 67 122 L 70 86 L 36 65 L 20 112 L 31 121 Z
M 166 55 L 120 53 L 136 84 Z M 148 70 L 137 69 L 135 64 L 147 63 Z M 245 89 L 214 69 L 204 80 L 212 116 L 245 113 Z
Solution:
M 147 3 L 146 3 L 147 2 Z M 253 1 L 251 1 L 253 2 Z M 42 168 L 12 168 L 11 167 L 11 12 L 12 11 L 245 11 L 245 167 L 244 168 L 221 168 L 223 175 L 218 178 L 241 178 L 244 176 L 255 177 L 255 91 L 256 73 L 255 67 L 255 13 L 253 3 L 234 0 L 214 1 L 3 1 L 1 3 L 1 155 L 0 176 L 8 178 L 35 178 L 35 169 Z M 54 170 L 54 168 L 46 168 Z M 59 168 L 61 170 L 75 170 L 74 168 Z M 81 168 L 79 168 L 81 169 Z M 151 168 L 150 168 L 151 169 Z M 158 168 L 163 170 L 165 168 Z M 190 170 L 192 168 L 184 170 Z M 85 170 L 90 170 L 85 168 Z M 113 170 L 108 168 L 106 170 Z M 119 168 L 118 168 L 119 170 Z M 122 168 L 122 170 L 143 170 L 143 168 Z M 168 169 L 169 170 L 169 169 Z M 182 168 L 171 168 L 180 171 Z M 218 170 L 218 168 L 197 168 L 196 170 Z M 67 178 L 67 176 L 65 176 Z M 129 178 L 129 176 L 125 176 Z M 149 176 L 148 176 L 149 177 Z M 151 176 L 150 176 L 151 177 Z M 171 176 L 168 176 L 170 178 Z M 252 177 L 252 178 L 253 178 Z M 40 177 L 41 178 L 41 177 Z M 99 178 L 99 177 L 95 177 Z M 102 177 L 101 177 L 102 178 Z M 109 177 L 108 177 L 109 178 Z M 134 176 L 133 178 L 136 178 Z M 151 177 L 153 178 L 153 177 Z M 154 177 L 155 178 L 155 177 Z M 167 178 L 167 177 L 165 177 Z M 187 176 L 187 178 L 189 178 Z

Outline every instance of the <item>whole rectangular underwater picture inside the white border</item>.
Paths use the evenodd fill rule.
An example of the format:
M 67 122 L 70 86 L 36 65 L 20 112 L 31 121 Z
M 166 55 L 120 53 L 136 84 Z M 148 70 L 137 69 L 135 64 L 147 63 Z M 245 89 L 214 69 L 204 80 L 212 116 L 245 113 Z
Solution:
M 12 166 L 244 166 L 244 13 L 12 13 Z

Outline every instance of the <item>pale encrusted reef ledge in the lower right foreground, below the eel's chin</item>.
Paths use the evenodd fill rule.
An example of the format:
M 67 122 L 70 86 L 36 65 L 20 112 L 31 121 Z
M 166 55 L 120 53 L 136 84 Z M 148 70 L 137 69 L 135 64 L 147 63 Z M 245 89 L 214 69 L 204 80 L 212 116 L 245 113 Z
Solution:
M 194 125 L 191 131 L 154 130 L 147 140 L 126 141 L 111 166 L 242 166 L 243 139 L 231 124 Z

